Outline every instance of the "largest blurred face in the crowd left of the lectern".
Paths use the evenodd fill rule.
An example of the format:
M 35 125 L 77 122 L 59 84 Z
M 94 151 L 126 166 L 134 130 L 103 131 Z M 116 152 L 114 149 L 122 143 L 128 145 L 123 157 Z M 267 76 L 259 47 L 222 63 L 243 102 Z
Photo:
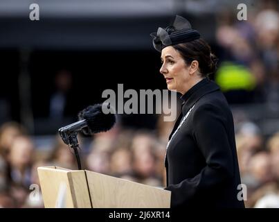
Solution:
M 14 167 L 24 167 L 31 161 L 33 143 L 27 137 L 17 137 L 10 148 L 10 163 Z

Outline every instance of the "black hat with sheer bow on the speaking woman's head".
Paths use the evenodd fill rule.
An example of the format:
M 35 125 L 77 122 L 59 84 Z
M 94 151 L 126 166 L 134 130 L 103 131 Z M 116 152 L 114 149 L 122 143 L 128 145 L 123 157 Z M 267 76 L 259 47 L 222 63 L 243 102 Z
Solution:
M 172 25 L 167 28 L 158 28 L 157 33 L 150 34 L 153 38 L 153 46 L 156 51 L 162 51 L 166 46 L 172 46 L 182 42 L 197 40 L 201 35 L 192 29 L 187 19 L 177 15 Z

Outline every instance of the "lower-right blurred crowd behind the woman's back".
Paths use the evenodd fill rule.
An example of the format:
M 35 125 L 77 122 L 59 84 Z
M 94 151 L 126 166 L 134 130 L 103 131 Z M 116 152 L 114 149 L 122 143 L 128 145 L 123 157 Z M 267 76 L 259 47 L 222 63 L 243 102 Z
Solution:
M 279 131 L 264 138 L 255 123 L 244 122 L 236 145 L 246 207 L 278 208 Z

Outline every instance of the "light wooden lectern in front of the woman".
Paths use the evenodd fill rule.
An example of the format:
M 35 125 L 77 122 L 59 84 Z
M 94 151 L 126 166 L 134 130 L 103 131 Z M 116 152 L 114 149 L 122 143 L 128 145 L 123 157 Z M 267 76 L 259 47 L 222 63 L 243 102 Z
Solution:
M 39 167 L 45 207 L 169 208 L 170 191 L 87 170 Z

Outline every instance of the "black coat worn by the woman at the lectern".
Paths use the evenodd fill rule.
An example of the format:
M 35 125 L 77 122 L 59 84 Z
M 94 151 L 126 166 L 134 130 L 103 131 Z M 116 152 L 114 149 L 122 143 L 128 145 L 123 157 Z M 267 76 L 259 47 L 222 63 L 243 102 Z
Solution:
M 195 107 L 166 153 L 165 189 L 172 191 L 171 207 L 244 207 L 243 200 L 237 199 L 240 171 L 233 116 L 224 95 L 204 78 L 181 99 L 182 112 L 170 138 L 183 116 Z

